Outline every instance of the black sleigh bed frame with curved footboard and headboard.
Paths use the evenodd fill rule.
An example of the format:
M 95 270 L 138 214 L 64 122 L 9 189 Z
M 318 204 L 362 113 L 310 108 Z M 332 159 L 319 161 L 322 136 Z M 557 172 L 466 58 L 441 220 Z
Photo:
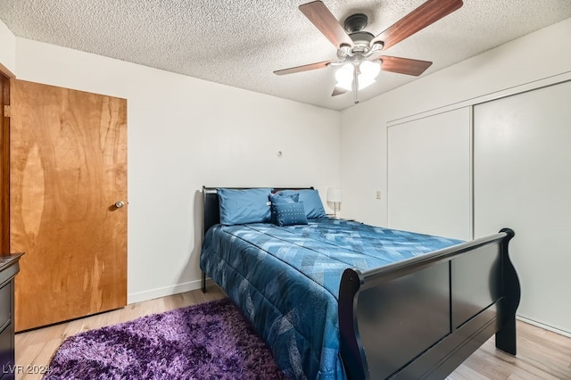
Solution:
M 203 223 L 204 233 L 219 223 L 213 187 L 203 187 Z M 443 379 L 494 334 L 497 348 L 516 355 L 513 236 L 504 228 L 382 268 L 347 268 L 338 297 L 347 376 Z M 203 292 L 205 281 L 203 273 Z

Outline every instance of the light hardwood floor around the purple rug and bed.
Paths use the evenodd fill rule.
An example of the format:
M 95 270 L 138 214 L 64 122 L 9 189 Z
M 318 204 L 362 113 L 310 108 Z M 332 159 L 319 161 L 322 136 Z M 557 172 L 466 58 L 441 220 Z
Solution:
M 41 379 L 50 359 L 70 335 L 109 326 L 148 314 L 218 300 L 225 294 L 218 287 L 180 293 L 147 302 L 130 304 L 92 317 L 80 318 L 16 335 L 16 379 Z M 448 379 L 571 379 L 571 338 L 517 322 L 517 356 L 496 350 L 494 338 L 469 357 Z

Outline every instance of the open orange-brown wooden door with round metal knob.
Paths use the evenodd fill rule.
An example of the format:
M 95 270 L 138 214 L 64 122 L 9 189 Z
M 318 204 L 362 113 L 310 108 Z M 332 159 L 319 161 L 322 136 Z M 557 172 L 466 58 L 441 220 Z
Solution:
M 11 82 L 16 331 L 127 302 L 127 101 Z

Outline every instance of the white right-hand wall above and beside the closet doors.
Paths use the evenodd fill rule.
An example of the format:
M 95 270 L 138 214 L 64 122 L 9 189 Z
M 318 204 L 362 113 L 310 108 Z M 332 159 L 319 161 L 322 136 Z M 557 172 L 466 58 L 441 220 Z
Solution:
M 571 70 L 571 19 L 357 104 L 341 115 L 343 217 L 386 226 L 386 123 Z M 381 73 L 383 76 L 399 75 Z

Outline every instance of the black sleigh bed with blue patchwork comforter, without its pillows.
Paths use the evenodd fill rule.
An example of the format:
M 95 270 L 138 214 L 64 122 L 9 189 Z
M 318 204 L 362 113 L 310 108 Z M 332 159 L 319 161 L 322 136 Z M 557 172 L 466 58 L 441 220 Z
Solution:
M 221 192 L 260 189 L 319 194 L 203 187 L 203 292 L 211 277 L 287 376 L 444 378 L 494 334 L 516 354 L 509 228 L 461 242 L 323 214 L 282 225 L 270 202 L 269 220 L 221 223 L 230 204 Z

